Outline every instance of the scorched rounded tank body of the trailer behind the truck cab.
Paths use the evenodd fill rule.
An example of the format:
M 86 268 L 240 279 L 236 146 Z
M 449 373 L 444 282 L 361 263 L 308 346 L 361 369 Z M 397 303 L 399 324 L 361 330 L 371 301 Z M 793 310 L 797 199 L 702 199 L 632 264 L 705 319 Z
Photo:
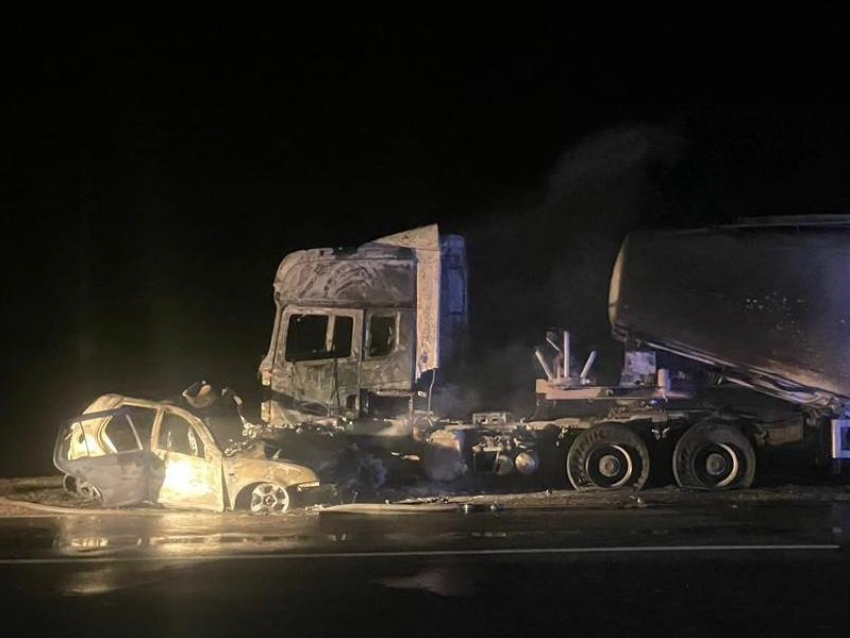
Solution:
M 800 403 L 850 397 L 850 225 L 641 232 L 611 280 L 614 334 Z

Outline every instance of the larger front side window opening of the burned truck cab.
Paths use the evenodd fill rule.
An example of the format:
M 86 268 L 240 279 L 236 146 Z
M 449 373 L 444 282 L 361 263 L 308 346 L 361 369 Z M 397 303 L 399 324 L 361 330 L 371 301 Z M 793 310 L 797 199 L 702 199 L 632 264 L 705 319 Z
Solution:
M 353 331 L 352 317 L 291 315 L 286 331 L 286 360 L 345 359 L 351 356 Z

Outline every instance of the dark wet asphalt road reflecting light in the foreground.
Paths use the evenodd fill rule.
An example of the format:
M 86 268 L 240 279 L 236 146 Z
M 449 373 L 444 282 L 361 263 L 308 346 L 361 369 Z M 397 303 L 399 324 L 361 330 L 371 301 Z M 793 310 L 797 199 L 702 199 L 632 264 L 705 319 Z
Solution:
M 827 635 L 850 506 L 0 520 L 4 635 Z

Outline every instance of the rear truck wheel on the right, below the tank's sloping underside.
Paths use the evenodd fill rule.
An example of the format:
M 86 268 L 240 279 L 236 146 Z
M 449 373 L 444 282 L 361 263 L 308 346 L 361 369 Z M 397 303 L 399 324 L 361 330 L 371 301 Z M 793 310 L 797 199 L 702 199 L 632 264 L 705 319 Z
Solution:
M 682 435 L 673 450 L 673 475 L 681 487 L 749 487 L 755 473 L 753 446 L 738 428 L 726 423 L 698 423 Z

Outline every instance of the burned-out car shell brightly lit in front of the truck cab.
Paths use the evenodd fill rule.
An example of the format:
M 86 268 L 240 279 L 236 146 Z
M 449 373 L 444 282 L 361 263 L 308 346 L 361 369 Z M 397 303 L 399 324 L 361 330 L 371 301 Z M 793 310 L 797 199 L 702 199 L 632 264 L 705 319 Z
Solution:
M 187 396 L 187 399 L 193 399 Z M 67 421 L 54 448 L 66 489 L 107 507 L 155 503 L 276 514 L 324 498 L 316 473 L 243 436 L 240 418 L 107 394 Z

